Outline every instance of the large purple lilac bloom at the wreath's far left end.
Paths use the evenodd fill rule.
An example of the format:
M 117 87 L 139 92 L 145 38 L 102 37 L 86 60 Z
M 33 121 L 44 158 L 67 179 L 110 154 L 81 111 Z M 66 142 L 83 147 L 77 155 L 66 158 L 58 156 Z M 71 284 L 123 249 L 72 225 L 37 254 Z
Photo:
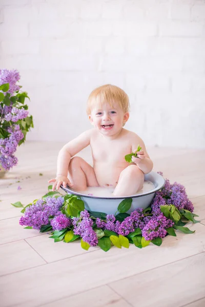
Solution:
M 31 226 L 33 229 L 40 229 L 43 225 L 49 224 L 49 217 L 57 214 L 64 199 L 61 197 L 40 199 L 35 204 L 26 208 L 24 216 L 20 217 L 19 224 Z

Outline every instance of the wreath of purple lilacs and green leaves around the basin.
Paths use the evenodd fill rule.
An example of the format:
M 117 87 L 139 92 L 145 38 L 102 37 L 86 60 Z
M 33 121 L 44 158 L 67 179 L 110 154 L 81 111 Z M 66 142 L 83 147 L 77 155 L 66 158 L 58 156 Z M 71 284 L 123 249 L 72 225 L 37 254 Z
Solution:
M 27 229 L 51 232 L 54 242 L 80 240 L 85 250 L 97 245 L 106 252 L 113 245 L 117 248 L 129 248 L 130 244 L 142 248 L 150 243 L 160 246 L 165 236 L 176 236 L 175 230 L 193 233 L 185 227 L 188 222 L 199 223 L 194 218 L 198 215 L 193 213 L 194 206 L 185 187 L 176 182 L 170 184 L 168 179 L 155 193 L 150 207 L 137 208 L 131 214 L 126 212 L 132 199 L 123 200 L 117 214 L 106 214 L 88 211 L 79 196 L 61 195 L 50 191 L 51 188 L 49 186 L 49 192 L 42 199 L 24 207 L 19 224 Z M 23 207 L 20 202 L 13 205 Z

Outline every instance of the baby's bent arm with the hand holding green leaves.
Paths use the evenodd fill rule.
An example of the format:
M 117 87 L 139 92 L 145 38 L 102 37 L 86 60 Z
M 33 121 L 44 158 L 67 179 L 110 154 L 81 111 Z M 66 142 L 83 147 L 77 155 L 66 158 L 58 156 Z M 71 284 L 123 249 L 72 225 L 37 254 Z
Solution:
M 140 151 L 136 151 L 138 145 L 141 147 Z M 138 156 L 138 158 L 132 156 L 132 162 L 137 164 L 139 169 L 141 169 L 145 174 L 149 173 L 153 168 L 153 162 L 147 153 L 145 143 L 137 135 L 135 135 L 132 142 L 132 152 L 137 152 Z

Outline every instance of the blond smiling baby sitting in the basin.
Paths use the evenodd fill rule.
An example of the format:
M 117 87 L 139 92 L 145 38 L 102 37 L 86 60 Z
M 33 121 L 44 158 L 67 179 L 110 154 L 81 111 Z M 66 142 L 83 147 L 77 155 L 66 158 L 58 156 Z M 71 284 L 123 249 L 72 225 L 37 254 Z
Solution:
M 93 90 L 87 102 L 87 114 L 94 128 L 67 143 L 58 153 L 57 175 L 54 182 L 58 190 L 66 185 L 75 191 L 87 187 L 109 187 L 115 196 L 129 196 L 143 187 L 144 174 L 153 168 L 144 142 L 123 126 L 129 119 L 129 98 L 119 87 L 102 85 Z M 93 167 L 80 157 L 73 157 L 83 148 L 91 146 Z M 137 152 L 138 145 L 141 150 Z M 125 160 L 128 153 L 132 163 Z M 73 158 L 72 158 L 73 157 Z

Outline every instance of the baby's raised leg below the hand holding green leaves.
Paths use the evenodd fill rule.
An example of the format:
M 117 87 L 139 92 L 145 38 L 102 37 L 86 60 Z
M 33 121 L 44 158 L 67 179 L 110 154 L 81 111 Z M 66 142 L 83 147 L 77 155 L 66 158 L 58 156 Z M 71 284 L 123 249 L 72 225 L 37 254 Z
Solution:
M 144 172 L 137 165 L 130 165 L 121 171 L 118 184 L 113 192 L 115 196 L 129 196 L 142 189 Z

